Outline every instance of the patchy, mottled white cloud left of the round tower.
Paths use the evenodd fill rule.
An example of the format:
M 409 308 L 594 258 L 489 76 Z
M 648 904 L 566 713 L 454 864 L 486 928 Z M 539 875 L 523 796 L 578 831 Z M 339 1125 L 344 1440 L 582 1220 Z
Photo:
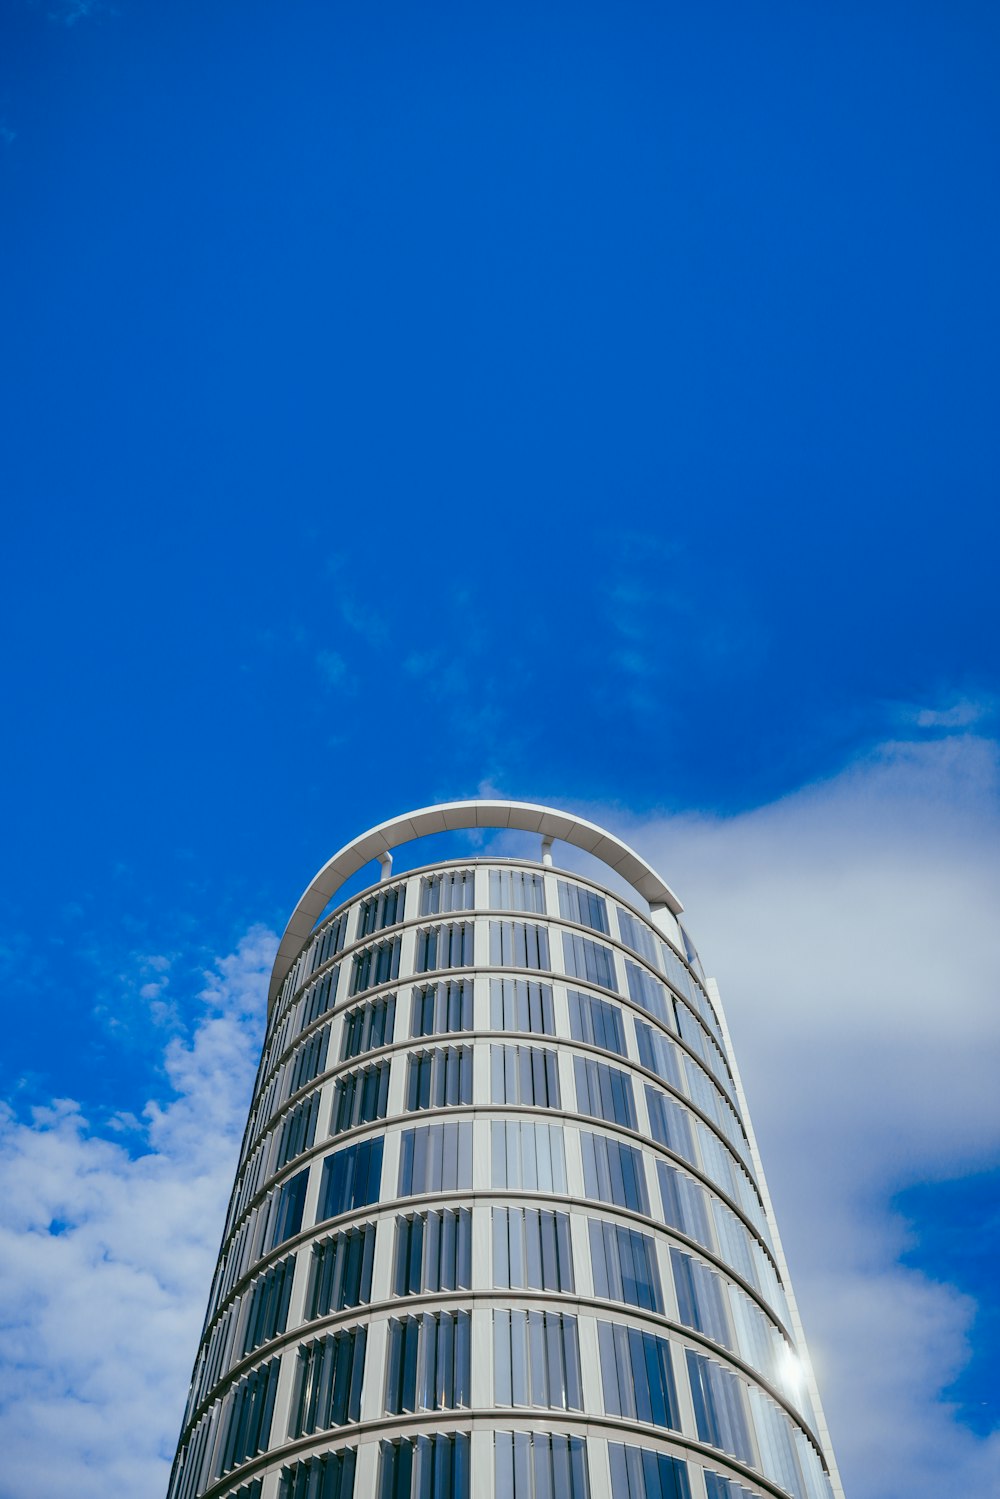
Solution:
M 259 1049 L 276 938 L 208 976 L 141 1153 L 72 1100 L 0 1115 L 4 1499 L 159 1499 L 166 1487 Z M 121 1117 L 112 1130 L 133 1129 Z

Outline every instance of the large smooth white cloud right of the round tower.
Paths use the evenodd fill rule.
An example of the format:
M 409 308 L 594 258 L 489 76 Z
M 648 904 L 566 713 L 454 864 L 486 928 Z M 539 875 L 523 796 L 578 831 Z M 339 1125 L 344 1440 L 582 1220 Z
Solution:
M 1000 1433 L 942 1394 L 975 1307 L 900 1264 L 891 1210 L 1000 1160 L 999 832 L 969 735 L 627 832 L 720 980 L 849 1499 L 1000 1492 Z

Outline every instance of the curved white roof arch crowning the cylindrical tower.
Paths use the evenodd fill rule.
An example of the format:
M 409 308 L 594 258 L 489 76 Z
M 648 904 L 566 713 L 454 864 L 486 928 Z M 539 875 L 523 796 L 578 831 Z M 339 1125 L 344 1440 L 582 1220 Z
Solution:
M 285 935 L 277 947 L 271 983 L 267 991 L 268 1010 L 285 982 L 303 943 L 337 893 L 345 880 L 370 863 L 384 857 L 403 842 L 426 838 L 430 833 L 460 832 L 468 827 L 508 827 L 517 832 L 541 833 L 543 838 L 561 838 L 576 848 L 585 848 L 609 868 L 615 869 L 637 890 L 651 908 L 666 905 L 678 916 L 684 907 L 669 884 L 646 863 L 634 848 L 585 817 L 561 812 L 553 806 L 537 806 L 534 802 L 441 802 L 438 806 L 421 806 L 402 817 L 390 817 L 387 823 L 370 827 L 358 838 L 345 844 L 315 875 L 291 914 Z

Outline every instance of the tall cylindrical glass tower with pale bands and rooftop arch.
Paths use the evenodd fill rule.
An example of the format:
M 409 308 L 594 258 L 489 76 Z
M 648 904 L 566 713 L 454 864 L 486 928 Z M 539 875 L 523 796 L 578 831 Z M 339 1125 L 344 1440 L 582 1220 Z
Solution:
M 394 845 L 468 827 L 538 833 L 540 857 L 393 877 Z M 412 812 L 316 875 L 169 1499 L 841 1496 L 679 913 L 612 833 L 519 802 Z

